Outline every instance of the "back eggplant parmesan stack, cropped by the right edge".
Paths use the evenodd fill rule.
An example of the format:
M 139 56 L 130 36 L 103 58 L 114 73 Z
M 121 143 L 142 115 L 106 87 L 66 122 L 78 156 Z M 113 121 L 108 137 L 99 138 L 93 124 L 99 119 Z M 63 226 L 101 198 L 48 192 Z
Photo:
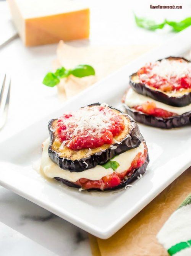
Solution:
M 137 122 L 166 129 L 191 124 L 191 62 L 185 58 L 148 63 L 129 84 L 123 105 Z

